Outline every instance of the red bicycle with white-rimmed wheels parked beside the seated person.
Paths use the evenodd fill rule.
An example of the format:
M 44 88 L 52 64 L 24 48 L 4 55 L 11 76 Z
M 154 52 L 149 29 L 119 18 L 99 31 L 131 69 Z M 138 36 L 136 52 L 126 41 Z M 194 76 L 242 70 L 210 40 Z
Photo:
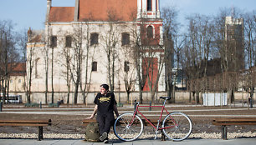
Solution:
M 141 117 L 144 117 L 145 120 L 149 122 L 151 126 L 156 130 L 154 139 L 156 139 L 156 135 L 160 130 L 162 130 L 166 138 L 169 138 L 172 141 L 182 141 L 188 138 L 192 132 L 191 119 L 182 112 L 169 113 L 166 110 L 165 104 L 166 100 L 171 99 L 171 97 L 160 98 L 164 99 L 164 102 L 161 106 L 140 106 L 140 102 L 135 102 L 136 110 L 134 112 L 126 112 L 117 117 L 114 124 L 115 136 L 122 141 L 136 140 L 136 138 L 139 138 L 143 132 L 144 124 Z M 156 126 L 139 111 L 139 107 L 161 107 L 161 114 L 157 120 Z M 162 113 L 164 110 L 166 111 L 167 115 L 161 121 Z M 137 113 L 141 114 L 141 117 L 139 117 Z

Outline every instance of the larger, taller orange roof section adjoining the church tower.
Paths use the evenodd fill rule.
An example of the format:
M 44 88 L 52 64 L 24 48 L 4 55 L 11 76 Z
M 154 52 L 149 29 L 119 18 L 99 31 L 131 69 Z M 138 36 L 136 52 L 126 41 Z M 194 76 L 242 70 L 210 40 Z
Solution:
M 133 21 L 137 0 L 79 0 L 79 21 Z

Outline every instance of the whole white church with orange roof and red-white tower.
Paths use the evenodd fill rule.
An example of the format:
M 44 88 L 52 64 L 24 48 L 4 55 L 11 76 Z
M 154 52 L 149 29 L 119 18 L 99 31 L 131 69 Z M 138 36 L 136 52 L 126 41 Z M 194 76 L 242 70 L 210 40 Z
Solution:
M 143 91 L 154 85 L 157 92 L 165 91 L 159 0 L 76 0 L 75 7 L 51 3 L 47 0 L 44 32 L 28 34 L 32 92 L 98 92 L 102 83 L 119 92 L 129 84 L 137 92 L 138 74 Z

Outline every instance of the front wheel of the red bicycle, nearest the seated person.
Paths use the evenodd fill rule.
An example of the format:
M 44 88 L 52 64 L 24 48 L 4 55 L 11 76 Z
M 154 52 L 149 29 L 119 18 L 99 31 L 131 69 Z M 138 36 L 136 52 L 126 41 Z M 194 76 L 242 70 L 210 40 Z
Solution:
M 134 116 L 133 113 L 124 113 L 116 118 L 114 133 L 122 141 L 134 141 L 141 136 L 143 122 L 141 117 Z

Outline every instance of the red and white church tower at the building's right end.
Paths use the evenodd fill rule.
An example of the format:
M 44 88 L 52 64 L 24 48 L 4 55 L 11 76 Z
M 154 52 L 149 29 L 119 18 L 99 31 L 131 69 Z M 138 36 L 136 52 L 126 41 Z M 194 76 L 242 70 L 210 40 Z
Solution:
M 150 83 L 156 84 L 158 65 L 162 59 L 163 34 L 162 20 L 159 9 L 160 0 L 137 0 L 137 31 L 141 36 L 141 47 L 144 47 L 146 56 L 141 60 L 143 91 L 150 91 Z M 153 86 L 151 86 L 153 87 Z M 163 87 L 157 87 L 163 91 Z

